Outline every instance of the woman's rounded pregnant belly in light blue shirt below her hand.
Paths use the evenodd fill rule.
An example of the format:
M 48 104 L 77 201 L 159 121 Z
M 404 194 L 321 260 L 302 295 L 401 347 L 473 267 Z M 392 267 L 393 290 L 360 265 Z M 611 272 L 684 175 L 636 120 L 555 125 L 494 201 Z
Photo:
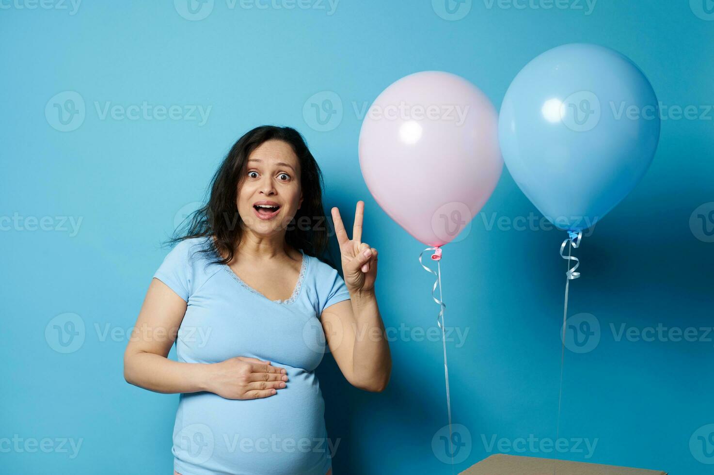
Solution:
M 285 366 L 288 384 L 261 399 L 182 394 L 176 411 L 176 470 L 196 474 L 324 475 L 331 448 L 324 402 L 311 371 Z

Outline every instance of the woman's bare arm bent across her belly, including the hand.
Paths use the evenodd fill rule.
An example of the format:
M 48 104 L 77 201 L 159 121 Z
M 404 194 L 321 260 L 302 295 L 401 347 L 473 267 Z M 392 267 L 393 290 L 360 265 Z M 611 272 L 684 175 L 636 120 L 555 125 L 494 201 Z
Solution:
M 285 386 L 285 370 L 269 361 L 238 356 L 216 364 L 181 363 L 169 356 L 186 314 L 186 301 L 151 279 L 124 351 L 124 379 L 159 393 L 210 391 L 227 399 L 256 399 Z

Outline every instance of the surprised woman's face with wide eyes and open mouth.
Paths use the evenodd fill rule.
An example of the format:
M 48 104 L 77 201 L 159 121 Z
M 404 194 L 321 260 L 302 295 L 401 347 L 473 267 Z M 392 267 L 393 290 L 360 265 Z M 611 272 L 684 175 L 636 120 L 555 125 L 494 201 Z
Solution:
M 248 157 L 238 188 L 238 214 L 246 228 L 269 236 L 283 232 L 303 202 L 300 163 L 292 147 L 268 140 Z

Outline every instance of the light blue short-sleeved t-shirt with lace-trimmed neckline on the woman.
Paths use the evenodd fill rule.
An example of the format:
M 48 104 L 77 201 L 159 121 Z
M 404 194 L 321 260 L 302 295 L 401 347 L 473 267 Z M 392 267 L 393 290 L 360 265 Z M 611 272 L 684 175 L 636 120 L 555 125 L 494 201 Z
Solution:
M 315 369 L 325 351 L 320 316 L 350 298 L 342 277 L 303 254 L 286 301 L 272 301 L 197 253 L 210 238 L 181 241 L 154 277 L 188 304 L 176 339 L 178 361 L 218 363 L 235 356 L 286 369 L 286 387 L 261 399 L 181 394 L 174 425 L 174 469 L 182 475 L 325 475 L 331 447 Z

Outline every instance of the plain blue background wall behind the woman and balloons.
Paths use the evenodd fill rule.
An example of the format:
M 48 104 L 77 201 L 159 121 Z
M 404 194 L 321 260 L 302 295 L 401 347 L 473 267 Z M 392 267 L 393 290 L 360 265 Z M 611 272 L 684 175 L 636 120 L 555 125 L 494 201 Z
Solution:
M 0 471 L 171 473 L 178 396 L 126 384 L 128 332 L 177 216 L 203 198 L 238 136 L 277 123 L 306 136 L 326 178 L 327 209 L 339 206 L 351 223 L 356 201 L 366 201 L 364 239 L 381 256 L 378 300 L 397 330 L 384 393 L 353 389 L 331 356 L 319 369 L 328 431 L 340 439 L 335 473 L 450 472 L 443 444 L 431 444 L 446 424 L 441 342 L 408 333 L 436 328 L 433 280 L 418 265 L 424 246 L 378 208 L 361 178 L 361 111 L 388 84 L 427 69 L 469 79 L 498 108 L 533 57 L 584 41 L 622 51 L 662 104 L 696 106 L 703 116 L 665 116 L 643 181 L 576 251 L 582 277 L 570 286 L 569 314 L 589 314 L 600 330 L 587 352 L 565 351 L 563 453 L 549 452 L 547 441 L 558 413 L 564 233 L 511 226 L 539 215 L 504 169 L 465 239 L 445 247 L 446 325 L 466 334 L 448 343 L 454 422 L 468 430 L 464 443 L 471 437 L 457 469 L 501 447 L 712 473 L 714 243 L 696 218 L 690 226 L 699 206 L 714 209 L 710 1 L 562 0 L 544 9 L 536 7 L 547 0 L 468 0 L 447 14 L 437 0 L 342 0 L 335 9 L 317 0 L 308 9 L 209 0 L 198 20 L 186 18 L 181 0 L 33 5 L 3 1 L 0 11 Z M 68 91 L 84 101 L 84 116 L 63 125 L 52 104 L 77 98 Z M 311 104 L 330 93 L 342 114 L 321 125 Z M 205 123 L 103 114 L 108 103 L 125 110 L 144 101 L 211 109 Z M 489 226 L 494 217 L 502 224 Z M 61 353 L 68 348 L 52 329 L 67 319 L 77 330 L 84 324 L 84 340 Z M 618 341 L 623 324 L 645 336 L 658 325 L 694 327 L 708 341 L 672 341 L 666 332 Z M 79 452 L 59 445 L 63 438 L 81 441 Z M 538 442 L 529 447 L 529 438 Z M 47 453 L 32 445 L 42 439 L 51 439 Z M 593 453 L 578 439 L 596 443 Z

